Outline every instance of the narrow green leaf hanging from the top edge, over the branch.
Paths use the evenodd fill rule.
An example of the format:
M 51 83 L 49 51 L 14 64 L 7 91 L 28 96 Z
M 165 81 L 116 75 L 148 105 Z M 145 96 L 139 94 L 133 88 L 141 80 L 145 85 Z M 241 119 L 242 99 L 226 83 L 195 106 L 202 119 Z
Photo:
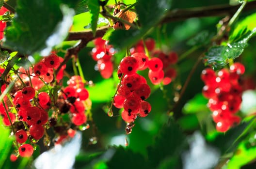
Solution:
M 88 0 L 88 7 L 90 9 L 90 13 L 92 14 L 91 27 L 93 30 L 93 35 L 96 34 L 97 21 L 99 16 L 99 3 L 98 0 Z

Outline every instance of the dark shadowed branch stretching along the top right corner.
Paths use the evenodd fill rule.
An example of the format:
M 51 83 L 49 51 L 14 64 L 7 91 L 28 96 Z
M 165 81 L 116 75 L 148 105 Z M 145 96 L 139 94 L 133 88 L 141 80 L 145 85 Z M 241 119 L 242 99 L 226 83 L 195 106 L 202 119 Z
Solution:
M 214 5 L 214 6 L 208 6 L 208 7 L 174 9 L 169 11 L 165 15 L 165 17 L 161 21 L 161 24 L 173 22 L 173 21 L 185 20 L 192 17 L 224 16 L 224 15 L 234 14 L 239 7 L 240 7 L 240 4 L 235 6 Z M 256 1 L 251 1 L 251 2 L 247 2 L 246 6 L 243 9 L 243 12 L 255 10 L 255 9 L 256 9 Z

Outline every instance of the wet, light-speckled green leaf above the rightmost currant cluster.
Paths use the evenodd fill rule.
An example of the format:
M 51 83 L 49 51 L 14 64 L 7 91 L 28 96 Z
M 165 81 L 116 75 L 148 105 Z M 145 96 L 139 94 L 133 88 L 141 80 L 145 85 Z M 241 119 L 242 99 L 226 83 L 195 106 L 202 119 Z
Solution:
M 243 53 L 244 48 L 248 45 L 248 41 L 256 34 L 254 28 L 246 37 L 238 42 L 227 43 L 226 45 L 212 46 L 205 53 L 205 64 L 219 69 L 228 63 L 228 59 L 235 59 Z

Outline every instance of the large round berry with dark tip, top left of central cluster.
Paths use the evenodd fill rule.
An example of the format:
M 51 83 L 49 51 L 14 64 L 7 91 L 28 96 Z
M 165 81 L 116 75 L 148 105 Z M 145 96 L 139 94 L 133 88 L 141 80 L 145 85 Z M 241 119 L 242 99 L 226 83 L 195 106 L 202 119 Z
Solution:
M 136 58 L 134 57 L 125 57 L 120 62 L 120 70 L 124 74 L 134 74 L 139 68 L 139 63 Z

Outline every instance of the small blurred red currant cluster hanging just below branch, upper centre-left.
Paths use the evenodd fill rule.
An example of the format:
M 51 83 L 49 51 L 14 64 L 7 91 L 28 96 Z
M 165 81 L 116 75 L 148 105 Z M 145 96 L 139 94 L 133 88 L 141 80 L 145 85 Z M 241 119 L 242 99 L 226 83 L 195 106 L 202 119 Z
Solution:
M 115 53 L 112 45 L 101 38 L 96 38 L 94 41 L 95 47 L 92 50 L 92 57 L 97 61 L 96 70 L 98 70 L 104 79 L 108 79 L 113 73 L 112 56 Z

